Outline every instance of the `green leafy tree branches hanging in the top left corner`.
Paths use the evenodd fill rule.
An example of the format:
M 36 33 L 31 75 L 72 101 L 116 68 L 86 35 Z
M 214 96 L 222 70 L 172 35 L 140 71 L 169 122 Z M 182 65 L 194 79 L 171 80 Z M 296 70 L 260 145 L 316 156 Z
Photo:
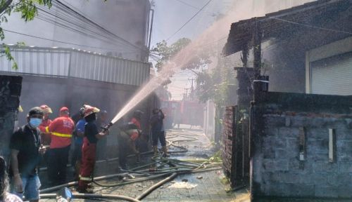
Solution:
M 44 5 L 51 7 L 51 0 L 0 0 L 0 39 L 3 41 L 5 39 L 4 29 L 1 27 L 1 23 L 8 22 L 6 15 L 11 15 L 11 13 L 20 13 L 21 18 L 25 22 L 33 20 L 38 14 L 37 6 Z M 23 46 L 24 43 L 17 43 L 16 46 Z M 12 68 L 18 69 L 17 62 L 15 58 L 11 55 L 11 49 L 6 44 L 2 43 L 3 50 L 0 52 L 0 57 L 6 56 L 6 58 L 13 62 Z

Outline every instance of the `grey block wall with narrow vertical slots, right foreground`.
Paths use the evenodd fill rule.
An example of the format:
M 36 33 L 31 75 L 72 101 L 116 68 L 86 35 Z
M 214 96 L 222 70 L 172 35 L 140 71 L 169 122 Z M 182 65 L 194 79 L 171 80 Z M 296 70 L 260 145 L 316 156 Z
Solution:
M 352 198 L 352 96 L 258 97 L 251 117 L 253 196 Z

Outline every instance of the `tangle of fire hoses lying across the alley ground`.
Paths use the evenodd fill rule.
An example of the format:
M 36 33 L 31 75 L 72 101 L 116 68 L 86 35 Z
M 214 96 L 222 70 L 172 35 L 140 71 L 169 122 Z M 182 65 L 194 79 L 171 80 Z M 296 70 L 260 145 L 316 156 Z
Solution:
M 175 135 L 174 135 L 175 136 Z M 176 137 L 176 136 L 175 136 Z M 182 135 L 182 137 L 184 137 Z M 186 136 L 187 137 L 187 136 Z M 169 137 L 173 138 L 173 137 Z M 169 153 L 179 153 L 179 152 L 187 152 L 188 149 L 182 146 L 175 145 L 174 142 L 182 142 L 182 141 L 193 141 L 197 140 L 195 137 L 187 137 L 188 140 L 174 140 L 174 141 L 168 141 L 169 146 L 172 145 L 174 147 L 178 147 L 182 149 L 181 151 L 175 151 L 175 152 L 169 152 Z M 151 152 L 144 152 L 147 154 L 150 154 Z M 190 161 L 181 161 L 178 159 L 170 159 L 170 158 L 161 158 L 161 155 L 158 156 L 153 156 L 152 160 L 155 161 L 153 163 L 148 163 L 144 166 L 139 166 L 137 168 L 133 168 L 131 170 L 127 170 L 129 173 L 132 173 L 132 175 L 135 175 L 139 178 L 133 179 L 134 177 L 130 177 L 132 179 L 127 179 L 127 175 L 130 175 L 129 173 L 120 173 L 120 174 L 114 174 L 114 175 L 105 175 L 101 177 L 95 177 L 92 182 L 95 184 L 101 186 L 101 187 L 117 187 L 117 186 L 122 186 L 125 184 L 132 184 L 134 182 L 142 182 L 144 180 L 153 180 L 158 177 L 166 177 L 164 180 L 161 180 L 157 184 L 154 184 L 152 187 L 144 191 L 140 196 L 137 198 L 130 198 L 127 196 L 119 196 L 119 195 L 111 195 L 111 194 L 73 194 L 75 198 L 113 198 L 113 199 L 122 199 L 125 201 L 138 201 L 144 197 L 146 197 L 148 194 L 151 193 L 151 191 L 157 189 L 160 187 L 162 184 L 165 184 L 166 182 L 169 182 L 170 180 L 174 179 L 177 175 L 182 175 L 182 174 L 187 174 L 187 173 L 200 173 L 200 172 L 206 172 L 210 170 L 219 170 L 220 169 L 220 164 L 221 163 L 212 163 L 210 160 L 190 160 Z M 161 159 L 157 159 L 161 158 Z M 161 165 L 156 166 L 155 170 L 151 169 L 143 169 L 149 166 L 155 166 L 157 163 L 161 163 Z M 165 165 L 172 165 L 172 168 L 161 168 Z M 119 182 L 115 184 L 101 184 L 97 181 L 99 180 L 107 180 L 112 177 L 124 177 L 123 181 L 124 182 Z M 69 182 L 67 184 L 62 184 L 56 187 L 50 187 L 47 189 L 42 189 L 41 193 L 49 192 L 49 191 L 55 191 L 57 189 L 61 189 L 63 187 L 71 187 L 77 185 L 77 182 Z M 54 195 L 56 194 L 41 194 L 40 196 L 42 198 L 53 198 Z

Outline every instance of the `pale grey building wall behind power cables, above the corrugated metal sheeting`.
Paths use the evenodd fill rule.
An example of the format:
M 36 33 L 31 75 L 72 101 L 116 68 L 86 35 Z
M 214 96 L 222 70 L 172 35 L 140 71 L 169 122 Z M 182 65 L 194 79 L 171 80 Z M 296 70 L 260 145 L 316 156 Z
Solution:
M 62 17 L 63 11 L 58 10 L 58 6 L 56 6 L 56 4 L 53 4 L 49 10 L 47 8 L 43 9 L 46 12 L 59 16 L 60 18 L 68 18 L 65 22 L 60 21 L 49 23 L 41 20 L 41 18 L 48 18 L 46 16 L 49 14 L 39 10 L 38 17 L 34 18 L 33 21 L 25 22 L 20 19 L 20 14 L 12 13 L 8 16 L 8 23 L 1 24 L 1 27 L 4 29 L 29 34 L 32 36 L 44 37 L 46 39 L 54 39 L 56 41 L 47 41 L 30 36 L 5 32 L 6 39 L 4 40 L 4 43 L 15 44 L 17 42 L 25 42 L 27 46 L 80 48 L 96 53 L 108 53 L 108 55 L 119 56 L 131 60 L 145 60 L 145 57 L 148 55 L 145 51 L 145 47 L 147 45 L 147 36 L 149 32 L 149 0 L 68 0 L 62 2 L 70 8 L 73 8 L 73 10 L 78 13 L 82 13 L 84 17 L 87 17 L 88 19 L 96 22 L 96 24 L 101 25 L 101 27 L 108 29 L 108 31 L 113 34 L 120 36 L 122 39 L 134 44 L 137 48 L 127 45 L 124 41 L 116 40 L 113 36 L 108 36 L 109 39 L 102 37 L 101 35 L 106 34 L 101 34 L 100 28 L 100 31 L 95 30 L 97 34 L 92 34 L 100 39 L 87 36 L 87 33 L 90 33 L 88 30 L 92 30 L 94 25 L 88 24 L 87 20 L 77 20 L 71 15 Z M 41 6 L 39 7 L 42 8 Z M 59 15 L 60 13 L 61 15 Z M 54 18 L 54 20 L 59 20 L 58 17 L 51 18 Z M 86 34 L 71 31 L 68 28 L 63 28 L 59 26 L 59 23 L 64 23 L 64 25 L 68 27 L 80 26 L 80 29 L 82 29 Z M 59 43 L 57 41 L 75 43 L 83 46 Z M 87 46 L 92 46 L 92 48 Z

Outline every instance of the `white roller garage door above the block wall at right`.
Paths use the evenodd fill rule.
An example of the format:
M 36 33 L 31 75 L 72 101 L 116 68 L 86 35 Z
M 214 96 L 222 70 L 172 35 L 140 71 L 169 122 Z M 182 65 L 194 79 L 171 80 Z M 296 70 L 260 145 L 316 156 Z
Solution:
M 352 53 L 312 62 L 311 93 L 352 95 Z

